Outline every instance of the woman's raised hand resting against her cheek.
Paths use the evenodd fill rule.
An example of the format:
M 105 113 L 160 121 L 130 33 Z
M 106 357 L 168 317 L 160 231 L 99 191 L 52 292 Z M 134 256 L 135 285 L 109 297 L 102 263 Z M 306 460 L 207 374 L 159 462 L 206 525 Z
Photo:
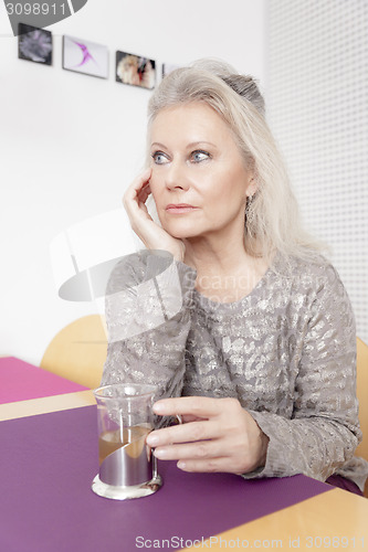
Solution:
M 146 201 L 149 197 L 151 169 L 141 172 L 129 185 L 123 198 L 124 208 L 129 216 L 133 231 L 148 250 L 164 250 L 177 261 L 183 261 L 186 246 L 181 240 L 172 237 L 156 224 L 148 213 Z

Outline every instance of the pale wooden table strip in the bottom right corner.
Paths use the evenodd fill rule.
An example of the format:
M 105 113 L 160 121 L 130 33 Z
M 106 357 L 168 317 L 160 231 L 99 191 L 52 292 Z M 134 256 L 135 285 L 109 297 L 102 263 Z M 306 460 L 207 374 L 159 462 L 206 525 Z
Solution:
M 320 495 L 211 537 L 211 551 L 368 549 L 368 500 L 332 487 Z M 186 551 L 206 550 L 194 543 Z

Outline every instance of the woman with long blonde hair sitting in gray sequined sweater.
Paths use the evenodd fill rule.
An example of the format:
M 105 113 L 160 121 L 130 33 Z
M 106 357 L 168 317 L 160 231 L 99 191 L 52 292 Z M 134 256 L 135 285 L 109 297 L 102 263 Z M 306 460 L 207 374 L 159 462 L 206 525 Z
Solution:
M 159 386 L 156 414 L 186 423 L 147 442 L 180 469 L 334 475 L 359 492 L 368 465 L 354 457 L 361 438 L 354 316 L 336 270 L 301 229 L 263 112 L 252 78 L 221 62 L 176 70 L 154 93 L 147 169 L 124 197 L 148 251 L 114 269 L 109 297 L 124 287 L 134 295 L 155 263 L 167 262 L 154 254 L 164 250 L 175 259 L 181 308 L 119 339 L 128 318 L 138 328 L 149 318 L 149 301 L 137 291 L 119 308 L 108 297 L 103 383 Z M 150 194 L 159 223 L 146 206 Z M 172 287 L 161 293 L 172 298 Z

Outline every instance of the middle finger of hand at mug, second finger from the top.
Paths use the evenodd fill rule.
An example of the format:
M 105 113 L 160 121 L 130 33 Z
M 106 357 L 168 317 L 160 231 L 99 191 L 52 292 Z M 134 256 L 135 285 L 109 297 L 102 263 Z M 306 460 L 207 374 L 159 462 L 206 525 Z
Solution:
M 198 440 L 213 439 L 219 436 L 219 427 L 215 422 L 190 422 L 189 424 L 174 425 L 151 432 L 147 437 L 147 444 L 153 447 L 171 445 L 175 443 L 193 443 Z

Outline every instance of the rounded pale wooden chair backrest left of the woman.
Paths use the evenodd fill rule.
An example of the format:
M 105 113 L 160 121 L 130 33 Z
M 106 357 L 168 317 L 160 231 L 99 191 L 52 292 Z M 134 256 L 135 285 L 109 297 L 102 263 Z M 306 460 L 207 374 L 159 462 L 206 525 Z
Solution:
M 53 338 L 42 358 L 41 368 L 94 389 L 99 385 L 106 353 L 107 338 L 102 317 L 85 316 Z

